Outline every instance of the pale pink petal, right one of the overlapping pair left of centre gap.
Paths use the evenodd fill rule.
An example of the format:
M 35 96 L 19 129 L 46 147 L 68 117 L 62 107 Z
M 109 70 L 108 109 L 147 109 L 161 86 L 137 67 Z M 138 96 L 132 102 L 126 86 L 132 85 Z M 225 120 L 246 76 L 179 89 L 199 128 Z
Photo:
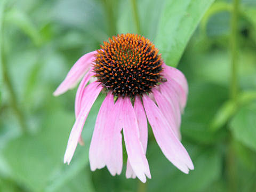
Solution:
M 112 175 L 121 174 L 123 167 L 122 110 L 123 102 L 118 99 L 112 110 L 109 111 L 103 138 L 106 142 L 106 165 Z

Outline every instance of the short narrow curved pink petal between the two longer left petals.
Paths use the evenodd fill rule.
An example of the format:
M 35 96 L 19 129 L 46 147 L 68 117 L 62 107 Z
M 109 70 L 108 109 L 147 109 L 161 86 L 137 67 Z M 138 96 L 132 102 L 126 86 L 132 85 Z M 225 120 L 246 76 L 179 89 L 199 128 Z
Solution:
M 89 82 L 90 78 L 93 76 L 93 72 L 92 69 L 90 69 L 85 76 L 83 77 L 81 83 L 78 86 L 77 92 L 76 92 L 76 100 L 75 100 L 75 115 L 76 118 L 79 115 L 79 112 L 81 110 L 81 106 L 82 106 L 82 98 L 83 98 L 83 94 L 85 92 L 85 86 L 86 84 Z

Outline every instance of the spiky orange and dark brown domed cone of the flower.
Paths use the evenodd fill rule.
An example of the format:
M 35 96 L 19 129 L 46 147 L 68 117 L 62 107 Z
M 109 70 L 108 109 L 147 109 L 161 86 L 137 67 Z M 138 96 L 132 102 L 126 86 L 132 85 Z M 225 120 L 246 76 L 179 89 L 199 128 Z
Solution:
M 161 55 L 148 39 L 134 34 L 109 38 L 95 55 L 95 77 L 118 97 L 151 92 L 161 82 Z

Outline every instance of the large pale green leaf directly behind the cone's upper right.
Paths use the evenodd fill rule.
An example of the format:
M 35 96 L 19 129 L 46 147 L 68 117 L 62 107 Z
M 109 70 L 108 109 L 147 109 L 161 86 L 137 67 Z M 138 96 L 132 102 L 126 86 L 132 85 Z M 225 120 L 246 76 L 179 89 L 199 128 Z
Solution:
M 213 0 L 165 2 L 155 44 L 167 65 L 178 65 L 189 38 L 212 3 Z

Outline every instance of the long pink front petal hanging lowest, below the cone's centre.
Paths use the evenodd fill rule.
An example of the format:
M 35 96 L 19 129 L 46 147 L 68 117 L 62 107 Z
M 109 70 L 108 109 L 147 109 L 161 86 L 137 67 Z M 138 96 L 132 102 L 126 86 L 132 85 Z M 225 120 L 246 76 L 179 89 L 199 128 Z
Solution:
M 123 102 L 121 118 L 123 120 L 124 141 L 129 162 L 137 177 L 142 182 L 146 182 L 146 175 L 150 175 L 150 171 L 145 151 L 140 141 L 137 118 L 130 98 L 119 99 Z

